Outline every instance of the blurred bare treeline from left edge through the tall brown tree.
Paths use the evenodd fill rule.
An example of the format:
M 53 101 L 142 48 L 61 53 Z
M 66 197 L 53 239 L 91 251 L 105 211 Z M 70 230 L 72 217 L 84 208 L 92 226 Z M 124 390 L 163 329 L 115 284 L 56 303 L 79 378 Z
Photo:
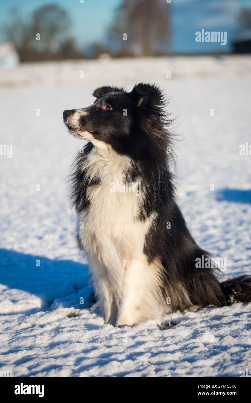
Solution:
M 37 8 L 28 19 L 11 9 L 0 29 L 15 44 L 21 62 L 97 58 L 104 53 L 157 56 L 170 53 L 170 7 L 161 0 L 123 0 L 104 41 L 90 44 L 87 50 L 77 47 L 70 35 L 68 11 L 56 4 Z

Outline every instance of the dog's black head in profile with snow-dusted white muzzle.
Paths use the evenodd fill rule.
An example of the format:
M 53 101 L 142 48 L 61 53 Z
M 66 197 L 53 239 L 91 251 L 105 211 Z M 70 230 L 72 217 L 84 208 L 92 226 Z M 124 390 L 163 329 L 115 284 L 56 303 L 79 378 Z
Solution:
M 91 106 L 63 112 L 64 123 L 77 138 L 120 150 L 125 145 L 129 147 L 140 133 L 163 126 L 164 98 L 156 85 L 141 83 L 131 92 L 104 86 L 97 88 L 93 96 L 96 100 Z

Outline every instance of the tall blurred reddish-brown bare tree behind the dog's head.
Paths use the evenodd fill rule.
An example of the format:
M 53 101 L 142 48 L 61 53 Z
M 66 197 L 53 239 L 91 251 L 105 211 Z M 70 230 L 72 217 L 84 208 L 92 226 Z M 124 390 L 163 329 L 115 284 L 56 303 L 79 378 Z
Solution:
M 111 46 L 128 46 L 134 56 L 155 56 L 170 52 L 170 33 L 170 3 L 123 0 L 108 38 Z

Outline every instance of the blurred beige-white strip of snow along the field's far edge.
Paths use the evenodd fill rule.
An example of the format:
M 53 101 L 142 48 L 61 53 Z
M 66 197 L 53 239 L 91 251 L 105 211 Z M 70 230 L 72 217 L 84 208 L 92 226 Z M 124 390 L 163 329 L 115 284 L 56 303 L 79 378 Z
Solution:
M 172 79 L 248 77 L 251 72 L 249 55 L 172 56 L 75 60 L 63 62 L 24 63 L 12 69 L 2 68 L 0 88 L 11 87 L 86 87 L 104 85 L 116 79 L 118 85 L 135 81 L 166 81 Z

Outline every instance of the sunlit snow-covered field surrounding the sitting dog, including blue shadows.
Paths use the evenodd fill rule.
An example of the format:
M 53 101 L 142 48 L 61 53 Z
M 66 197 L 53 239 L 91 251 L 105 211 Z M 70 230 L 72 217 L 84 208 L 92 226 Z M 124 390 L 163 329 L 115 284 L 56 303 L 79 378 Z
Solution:
M 239 70 L 226 77 L 226 60 L 212 74 L 214 59 L 194 60 L 194 70 L 191 59 L 191 71 L 211 72 L 206 79 L 185 73 L 168 79 L 166 71 L 175 77 L 179 64 L 168 69 L 164 59 L 151 60 L 149 72 L 141 60 L 142 74 L 139 61 L 107 61 L 105 72 L 93 61 L 93 70 L 74 83 L 60 81 L 65 64 L 53 64 L 53 77 L 48 64 L 13 69 L 8 74 L 17 85 L 3 71 L 0 143 L 12 145 L 12 158 L 0 155 L 0 370 L 13 376 L 240 376 L 251 370 L 251 304 L 177 312 L 177 325 L 168 330 L 157 326 L 163 318 L 114 328 L 86 307 L 93 295 L 74 244 L 66 183 L 82 142 L 69 137 L 62 110 L 87 106 L 97 85 L 121 84 L 123 74 L 127 89 L 155 81 L 170 97 L 174 131 L 183 139 L 176 142 L 178 196 L 195 240 L 227 258 L 223 277 L 251 273 L 251 155 L 239 152 L 251 144 L 245 67 L 251 58 L 231 61 Z M 75 64 L 68 66 L 72 73 Z M 19 82 L 24 76 L 34 82 Z

